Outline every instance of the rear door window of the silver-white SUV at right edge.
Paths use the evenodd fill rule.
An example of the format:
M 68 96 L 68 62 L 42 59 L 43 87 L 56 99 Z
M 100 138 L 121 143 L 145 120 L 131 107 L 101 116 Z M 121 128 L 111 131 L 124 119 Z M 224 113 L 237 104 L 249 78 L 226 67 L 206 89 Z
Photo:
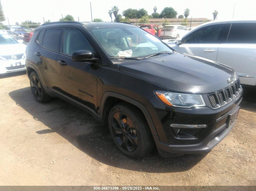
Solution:
M 256 43 L 256 22 L 232 23 L 227 43 Z

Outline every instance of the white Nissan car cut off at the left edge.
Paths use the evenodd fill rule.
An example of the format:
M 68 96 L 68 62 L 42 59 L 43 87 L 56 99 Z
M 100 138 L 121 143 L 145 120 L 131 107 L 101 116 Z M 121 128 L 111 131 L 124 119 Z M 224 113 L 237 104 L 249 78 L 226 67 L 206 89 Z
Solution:
M 0 74 L 25 70 L 25 48 L 22 40 L 0 31 Z

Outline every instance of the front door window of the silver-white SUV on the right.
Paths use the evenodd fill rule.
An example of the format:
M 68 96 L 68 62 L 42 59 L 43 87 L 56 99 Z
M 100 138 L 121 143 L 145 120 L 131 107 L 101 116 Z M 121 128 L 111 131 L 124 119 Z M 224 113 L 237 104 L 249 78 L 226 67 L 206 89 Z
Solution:
M 228 30 L 228 24 L 205 26 L 184 37 L 183 43 L 223 43 L 227 40 Z

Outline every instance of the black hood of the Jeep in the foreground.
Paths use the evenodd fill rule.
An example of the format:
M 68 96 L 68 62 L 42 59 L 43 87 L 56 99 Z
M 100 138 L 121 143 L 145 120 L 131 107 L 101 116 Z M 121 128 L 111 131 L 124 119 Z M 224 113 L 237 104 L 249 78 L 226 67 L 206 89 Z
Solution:
M 150 59 L 119 64 L 119 70 L 164 86 L 169 91 L 210 93 L 236 79 L 226 65 L 183 53 L 160 55 Z

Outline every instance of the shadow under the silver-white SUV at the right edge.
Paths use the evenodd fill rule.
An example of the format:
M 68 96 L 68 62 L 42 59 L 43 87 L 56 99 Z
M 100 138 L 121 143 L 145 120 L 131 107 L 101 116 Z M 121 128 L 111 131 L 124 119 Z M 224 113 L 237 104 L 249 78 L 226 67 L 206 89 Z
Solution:
M 243 87 L 244 94 L 241 104 L 241 109 L 255 112 L 256 113 L 256 87 L 255 86 L 245 86 Z

